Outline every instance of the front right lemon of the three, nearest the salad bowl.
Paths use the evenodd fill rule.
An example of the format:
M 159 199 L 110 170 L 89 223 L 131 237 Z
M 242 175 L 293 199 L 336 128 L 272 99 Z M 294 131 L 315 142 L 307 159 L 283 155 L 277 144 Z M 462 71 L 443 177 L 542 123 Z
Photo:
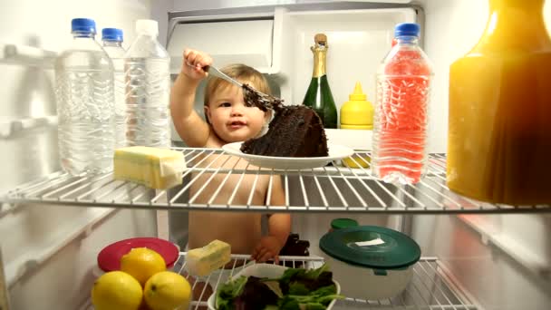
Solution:
M 143 297 L 151 310 L 188 309 L 191 286 L 185 277 L 163 271 L 150 277 Z

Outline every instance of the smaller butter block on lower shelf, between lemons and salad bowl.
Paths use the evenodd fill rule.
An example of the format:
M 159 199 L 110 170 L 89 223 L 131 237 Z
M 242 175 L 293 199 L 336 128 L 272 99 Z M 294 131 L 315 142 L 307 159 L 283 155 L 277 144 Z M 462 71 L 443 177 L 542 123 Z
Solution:
M 186 267 L 191 276 L 208 276 L 229 263 L 231 247 L 224 241 L 214 240 L 205 247 L 189 250 Z

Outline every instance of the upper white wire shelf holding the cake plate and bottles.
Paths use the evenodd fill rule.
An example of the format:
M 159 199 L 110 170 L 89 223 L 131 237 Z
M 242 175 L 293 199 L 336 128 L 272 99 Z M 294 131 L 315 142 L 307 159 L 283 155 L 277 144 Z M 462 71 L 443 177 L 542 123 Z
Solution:
M 367 168 L 345 167 L 340 161 L 309 170 L 274 170 L 252 166 L 247 160 L 229 156 L 223 150 L 174 150 L 184 153 L 188 169 L 184 171 L 182 185 L 173 189 L 148 189 L 115 180 L 112 173 L 70 176 L 58 171 L 9 191 L 4 202 L 268 212 L 551 212 L 550 205 L 489 204 L 451 192 L 446 186 L 446 156 L 443 154 L 430 154 L 427 175 L 419 183 L 396 186 L 374 178 Z M 362 167 L 369 165 L 370 156 L 370 152 L 356 151 L 349 159 Z M 255 203 L 260 184 L 267 182 L 270 187 L 276 179 L 281 179 L 285 189 L 285 204 L 272 204 L 270 190 L 264 203 Z M 247 197 L 243 197 L 243 192 Z

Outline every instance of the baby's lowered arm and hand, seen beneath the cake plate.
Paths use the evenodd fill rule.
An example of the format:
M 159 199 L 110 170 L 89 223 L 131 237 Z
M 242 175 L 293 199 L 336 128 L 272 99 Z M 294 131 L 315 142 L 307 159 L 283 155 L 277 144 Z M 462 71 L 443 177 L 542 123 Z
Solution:
M 272 186 L 272 206 L 285 205 L 285 191 L 279 177 L 274 178 Z M 279 263 L 279 251 L 285 246 L 287 237 L 291 232 L 291 215 L 287 213 L 275 213 L 268 218 L 268 236 L 262 237 L 251 256 L 257 262 L 265 262 L 274 258 Z

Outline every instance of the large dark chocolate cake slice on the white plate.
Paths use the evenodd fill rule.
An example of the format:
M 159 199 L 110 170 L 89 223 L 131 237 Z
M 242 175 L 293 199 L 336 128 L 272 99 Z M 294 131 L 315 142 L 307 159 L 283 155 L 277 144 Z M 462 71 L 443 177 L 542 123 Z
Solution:
M 245 141 L 241 151 L 279 157 L 328 156 L 322 120 L 314 110 L 304 105 L 276 107 L 274 120 L 266 134 Z

